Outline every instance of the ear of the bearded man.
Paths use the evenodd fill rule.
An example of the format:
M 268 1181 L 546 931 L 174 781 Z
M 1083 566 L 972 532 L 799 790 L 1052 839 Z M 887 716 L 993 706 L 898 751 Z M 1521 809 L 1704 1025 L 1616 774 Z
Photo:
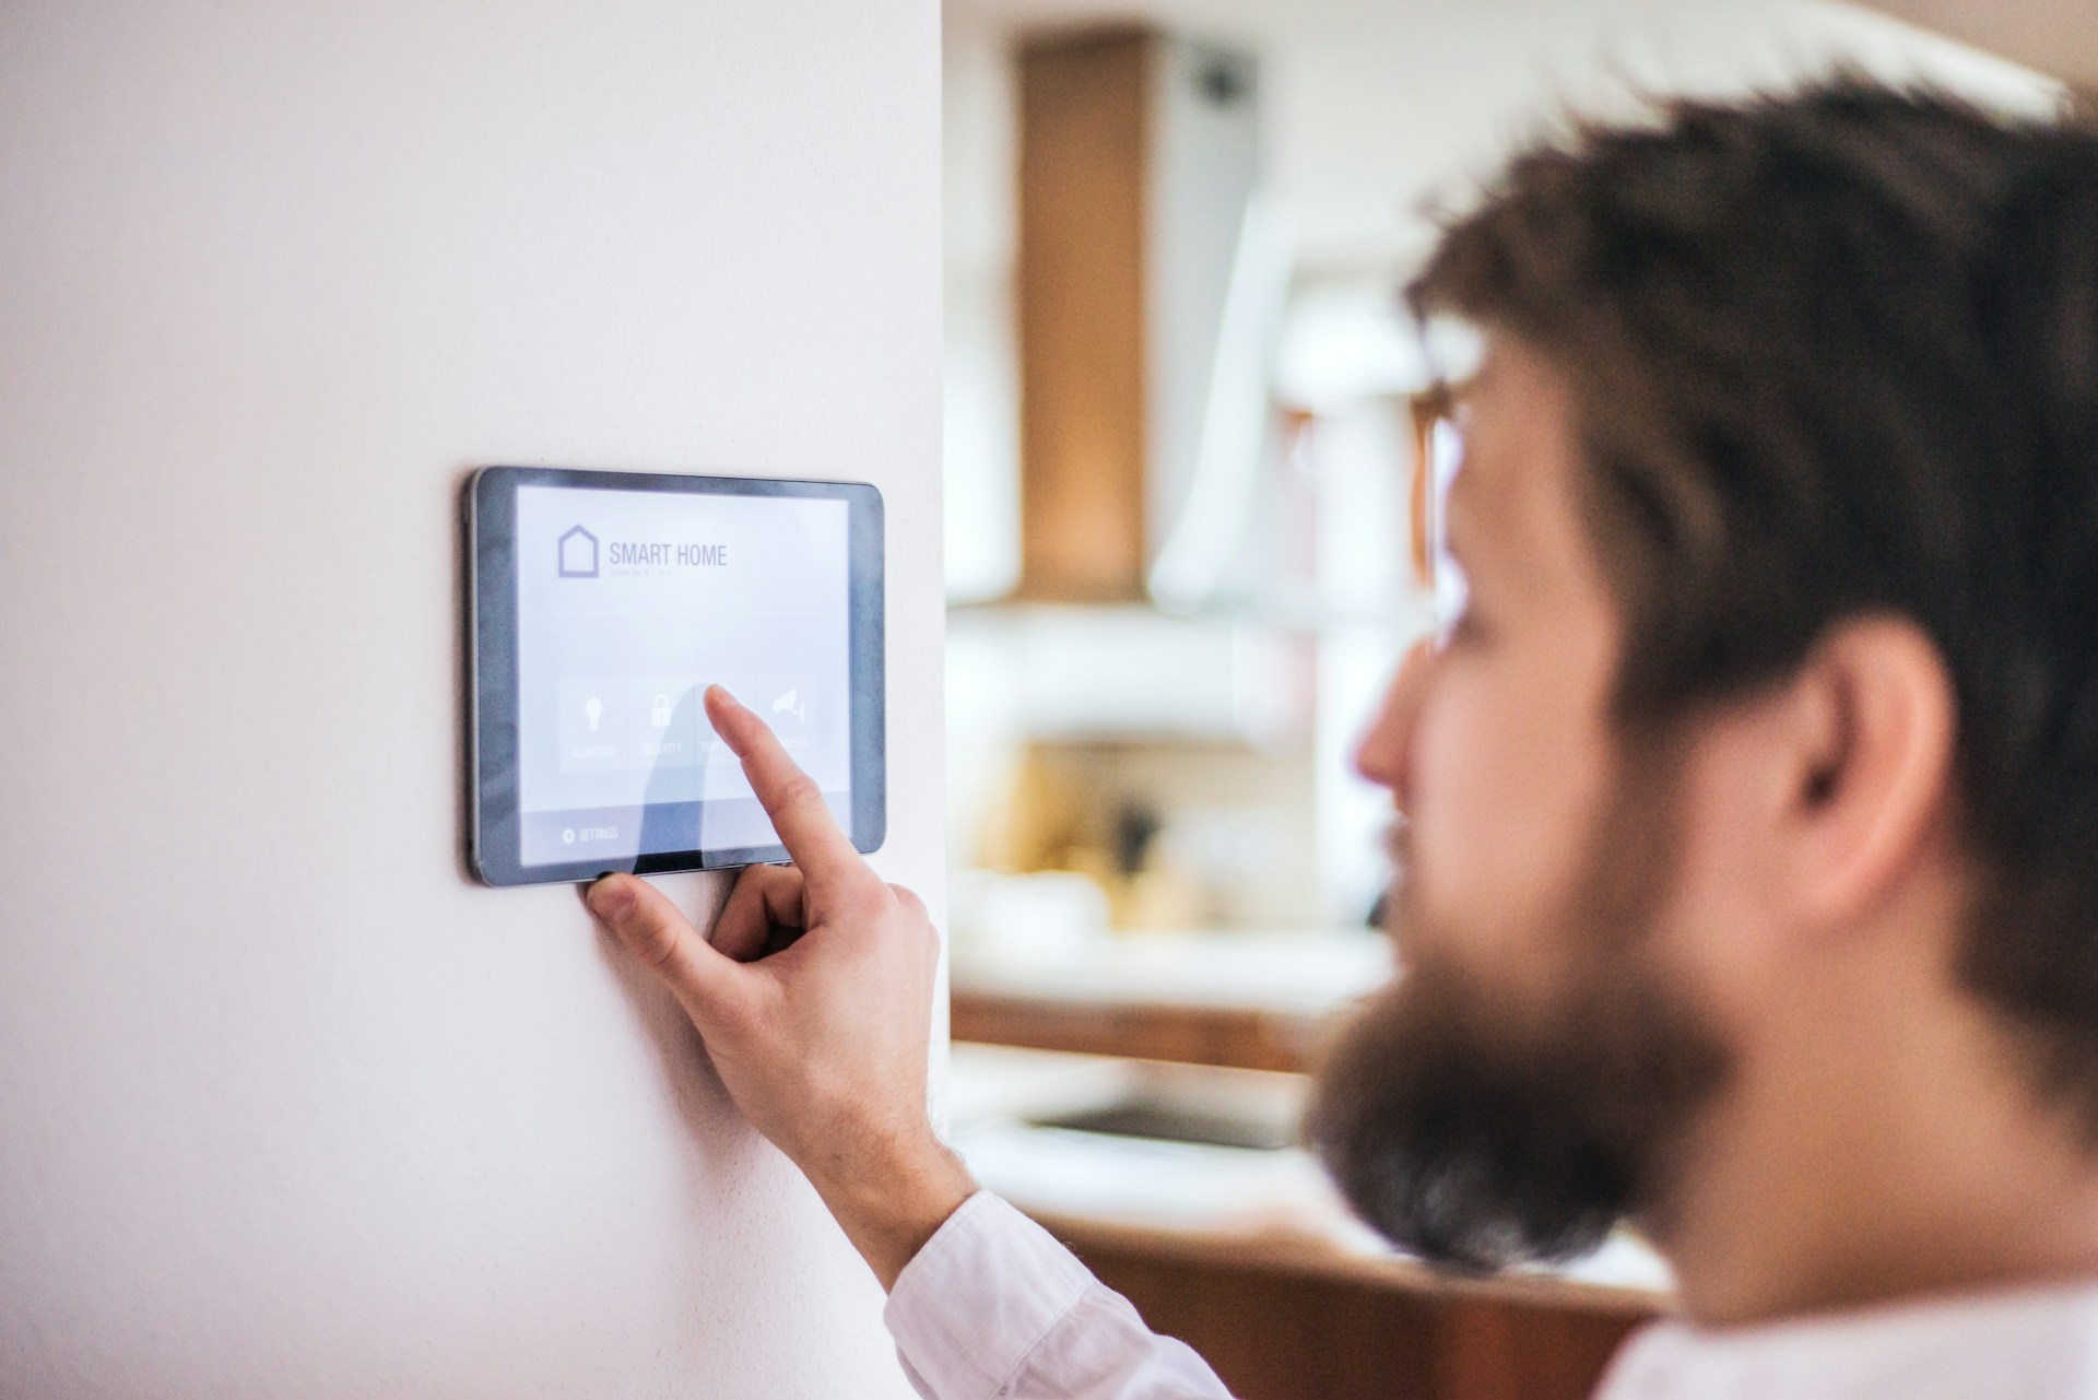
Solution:
M 1913 867 L 1951 802 L 1951 676 L 1915 623 L 1861 617 L 1815 646 L 1787 701 L 1790 892 L 1808 921 L 1853 924 Z

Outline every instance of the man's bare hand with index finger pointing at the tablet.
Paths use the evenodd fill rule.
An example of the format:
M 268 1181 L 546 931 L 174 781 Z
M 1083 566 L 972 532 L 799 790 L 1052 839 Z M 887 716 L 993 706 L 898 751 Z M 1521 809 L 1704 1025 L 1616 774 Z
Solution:
M 736 1106 L 808 1173 L 887 1289 L 976 1190 L 925 1112 L 940 936 L 883 884 L 764 720 L 720 686 L 707 718 L 793 856 L 743 871 L 707 942 L 655 886 L 587 903 L 678 995 Z

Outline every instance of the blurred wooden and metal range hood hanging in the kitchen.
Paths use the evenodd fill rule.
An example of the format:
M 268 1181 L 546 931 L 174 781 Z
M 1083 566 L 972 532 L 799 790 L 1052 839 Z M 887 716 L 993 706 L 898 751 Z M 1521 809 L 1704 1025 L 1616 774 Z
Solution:
M 1041 36 L 1018 65 L 1018 596 L 1137 602 L 1204 451 L 1257 69 L 1141 27 Z

